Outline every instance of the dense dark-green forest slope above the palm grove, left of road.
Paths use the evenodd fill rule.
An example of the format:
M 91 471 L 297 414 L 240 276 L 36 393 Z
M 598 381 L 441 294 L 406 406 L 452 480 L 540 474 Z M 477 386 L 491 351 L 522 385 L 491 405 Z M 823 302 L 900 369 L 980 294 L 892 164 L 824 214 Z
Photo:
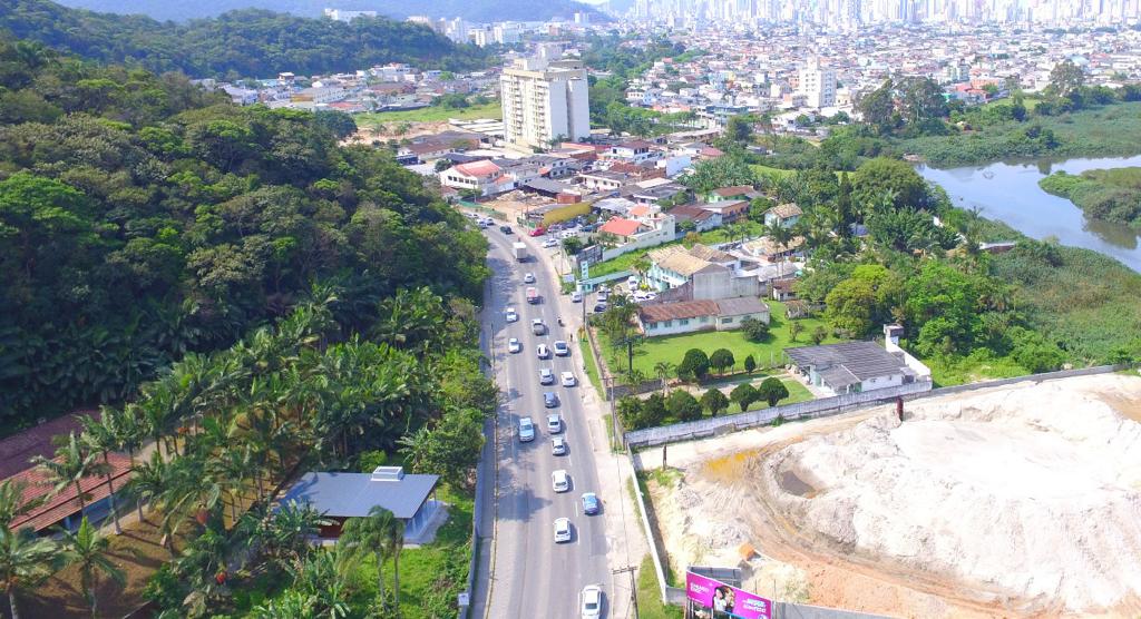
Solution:
M 314 291 L 343 334 L 402 287 L 476 298 L 483 237 L 327 121 L 0 39 L 6 430 L 129 399 Z

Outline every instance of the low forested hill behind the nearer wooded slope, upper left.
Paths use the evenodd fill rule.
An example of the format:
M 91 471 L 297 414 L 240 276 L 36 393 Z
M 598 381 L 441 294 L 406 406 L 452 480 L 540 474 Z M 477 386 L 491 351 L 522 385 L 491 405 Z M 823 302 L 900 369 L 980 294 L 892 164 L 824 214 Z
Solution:
M 192 78 L 266 78 L 356 71 L 382 63 L 468 71 L 487 51 L 391 19 L 346 24 L 268 10 L 240 10 L 186 24 L 71 9 L 48 0 L 0 3 L 0 30 L 62 51 Z

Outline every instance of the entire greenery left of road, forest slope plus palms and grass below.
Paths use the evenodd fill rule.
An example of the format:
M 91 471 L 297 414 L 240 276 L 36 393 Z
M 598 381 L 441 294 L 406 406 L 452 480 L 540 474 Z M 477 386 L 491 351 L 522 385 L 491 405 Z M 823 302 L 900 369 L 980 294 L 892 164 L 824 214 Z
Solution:
M 147 547 L 92 543 L 124 578 L 88 587 L 81 565 L 47 578 L 58 555 L 9 520 L 27 577 L 7 593 L 44 616 L 114 600 L 119 616 L 220 617 L 251 592 L 259 617 L 454 610 L 497 399 L 478 352 L 483 236 L 387 153 L 338 146 L 335 117 L 8 39 L 0 100 L 0 414 L 14 430 L 103 405 L 43 472 L 71 488 L 128 454 L 111 519 Z M 316 549 L 323 516 L 275 503 L 301 473 L 394 458 L 455 497 L 435 551 L 402 561 L 388 512 Z M 375 588 L 357 588 L 378 555 Z

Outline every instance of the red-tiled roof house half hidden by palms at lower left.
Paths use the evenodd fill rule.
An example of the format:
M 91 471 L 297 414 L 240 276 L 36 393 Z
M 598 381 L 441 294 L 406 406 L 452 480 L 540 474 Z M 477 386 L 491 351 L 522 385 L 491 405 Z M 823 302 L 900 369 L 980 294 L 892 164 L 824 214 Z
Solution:
M 16 518 L 11 529 L 31 527 L 35 532 L 47 535 L 57 524 L 71 530 L 79 527 L 79 497 L 75 487 L 68 484 L 58 495 L 50 496 L 52 486 L 41 471 L 32 466 L 31 459 L 35 456 L 55 454 L 52 438 L 79 432 L 81 416 L 98 416 L 98 413 L 66 415 L 0 441 L 0 479 L 25 482 L 27 484 L 24 490 L 25 503 L 49 497 L 39 507 Z M 130 458 L 123 454 L 111 454 L 108 459 L 112 483 L 118 491 L 130 479 Z M 84 495 L 83 514 L 89 520 L 98 522 L 110 515 L 111 506 L 107 497 L 111 495 L 111 488 L 107 486 L 106 475 L 87 478 L 80 482 L 80 488 Z M 119 512 L 124 513 L 122 505 L 119 506 Z

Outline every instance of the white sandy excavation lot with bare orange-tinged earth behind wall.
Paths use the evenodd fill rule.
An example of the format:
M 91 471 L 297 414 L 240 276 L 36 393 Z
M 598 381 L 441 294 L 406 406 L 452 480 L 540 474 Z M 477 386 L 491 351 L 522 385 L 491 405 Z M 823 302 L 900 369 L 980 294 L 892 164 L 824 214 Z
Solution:
M 682 578 L 739 564 L 761 595 L 898 617 L 1138 617 L 1139 420 L 1141 377 L 1028 381 L 674 445 L 648 484 Z

